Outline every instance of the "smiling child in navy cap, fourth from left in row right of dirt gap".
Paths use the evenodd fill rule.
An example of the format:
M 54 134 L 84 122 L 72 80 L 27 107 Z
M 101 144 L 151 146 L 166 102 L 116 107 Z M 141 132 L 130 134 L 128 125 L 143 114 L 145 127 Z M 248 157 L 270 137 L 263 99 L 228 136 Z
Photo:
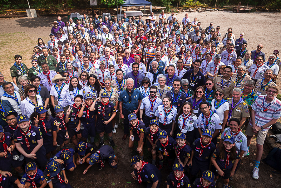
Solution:
M 187 170 L 188 166 L 186 164 L 190 158 L 191 147 L 185 143 L 185 138 L 186 136 L 184 133 L 178 133 L 173 148 L 177 156 L 174 163 L 182 164 L 183 168 Z

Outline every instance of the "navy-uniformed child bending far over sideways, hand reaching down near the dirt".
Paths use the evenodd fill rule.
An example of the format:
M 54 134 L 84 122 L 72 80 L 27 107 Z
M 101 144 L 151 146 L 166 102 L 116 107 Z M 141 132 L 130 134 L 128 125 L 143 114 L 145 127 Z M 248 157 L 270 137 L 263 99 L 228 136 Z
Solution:
M 99 164 L 98 169 L 101 170 L 104 167 L 105 159 L 108 161 L 111 168 L 117 168 L 118 159 L 114 155 L 112 147 L 103 145 L 98 151 L 92 154 L 90 158 L 87 158 L 87 163 L 89 163 L 89 166 L 83 171 L 83 174 L 85 174 L 95 163 Z

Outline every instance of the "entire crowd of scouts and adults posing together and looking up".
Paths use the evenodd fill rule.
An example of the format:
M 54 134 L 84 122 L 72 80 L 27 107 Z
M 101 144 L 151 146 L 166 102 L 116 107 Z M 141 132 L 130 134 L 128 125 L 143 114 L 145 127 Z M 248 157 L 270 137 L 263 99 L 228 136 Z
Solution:
M 212 22 L 203 29 L 187 13 L 182 21 L 164 11 L 123 16 L 57 17 L 50 40 L 38 38 L 31 68 L 15 55 L 12 82 L 0 73 L 0 187 L 71 187 L 65 170 L 77 165 L 88 164 L 84 174 L 105 159 L 117 168 L 120 119 L 136 152 L 132 178 L 147 187 L 163 178 L 167 187 L 215 187 L 219 179 L 229 187 L 254 135 L 258 179 L 267 131 L 281 114 L 279 51 L 248 51 L 247 33 L 235 38 Z

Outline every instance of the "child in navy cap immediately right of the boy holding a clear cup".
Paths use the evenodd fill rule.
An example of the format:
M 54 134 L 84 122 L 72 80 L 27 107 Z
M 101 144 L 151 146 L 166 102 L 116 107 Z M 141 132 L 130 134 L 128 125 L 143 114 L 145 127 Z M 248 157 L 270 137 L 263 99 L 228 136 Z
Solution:
M 146 133 L 146 144 L 147 150 L 152 154 L 152 164 L 155 165 L 156 162 L 156 142 L 158 141 L 158 134 L 161 129 L 159 128 L 159 121 L 156 119 L 152 119 L 150 121 L 149 127 L 145 128 Z

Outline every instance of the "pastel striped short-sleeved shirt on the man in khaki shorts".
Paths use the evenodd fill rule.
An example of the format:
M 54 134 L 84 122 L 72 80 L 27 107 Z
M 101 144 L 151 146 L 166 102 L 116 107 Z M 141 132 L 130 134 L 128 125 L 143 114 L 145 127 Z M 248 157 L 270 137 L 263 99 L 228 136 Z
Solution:
M 258 127 L 265 125 L 272 119 L 280 118 L 281 115 L 281 101 L 275 97 L 270 103 L 267 103 L 265 97 L 266 95 L 259 95 L 252 104 L 252 109 L 255 111 L 255 124 Z M 251 118 L 249 124 L 253 126 Z M 270 127 L 264 128 L 264 130 L 268 130 Z

